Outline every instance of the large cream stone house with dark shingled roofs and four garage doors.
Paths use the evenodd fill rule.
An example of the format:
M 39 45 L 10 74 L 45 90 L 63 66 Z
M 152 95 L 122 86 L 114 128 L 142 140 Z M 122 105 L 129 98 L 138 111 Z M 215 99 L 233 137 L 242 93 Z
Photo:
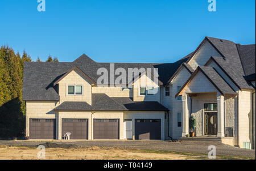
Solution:
M 158 82 L 143 72 L 130 88 L 102 87 L 97 71 L 111 72 L 110 63 L 95 62 L 85 54 L 73 62 L 25 62 L 26 135 L 63 139 L 71 132 L 71 139 L 178 139 L 191 131 L 193 116 L 196 136 L 216 136 L 255 149 L 255 44 L 205 37 L 194 52 L 174 63 L 112 65 L 126 72 L 158 69 Z

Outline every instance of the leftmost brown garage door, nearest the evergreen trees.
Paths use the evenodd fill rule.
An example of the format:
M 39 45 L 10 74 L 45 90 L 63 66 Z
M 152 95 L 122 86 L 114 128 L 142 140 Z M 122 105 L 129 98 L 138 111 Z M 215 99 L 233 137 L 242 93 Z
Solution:
M 56 120 L 30 119 L 30 139 L 56 139 Z

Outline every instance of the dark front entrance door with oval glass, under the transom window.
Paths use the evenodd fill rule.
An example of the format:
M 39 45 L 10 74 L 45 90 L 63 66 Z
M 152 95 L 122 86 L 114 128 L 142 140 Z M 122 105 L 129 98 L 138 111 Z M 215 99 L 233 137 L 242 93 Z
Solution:
M 217 135 L 217 113 L 205 113 L 205 135 Z

